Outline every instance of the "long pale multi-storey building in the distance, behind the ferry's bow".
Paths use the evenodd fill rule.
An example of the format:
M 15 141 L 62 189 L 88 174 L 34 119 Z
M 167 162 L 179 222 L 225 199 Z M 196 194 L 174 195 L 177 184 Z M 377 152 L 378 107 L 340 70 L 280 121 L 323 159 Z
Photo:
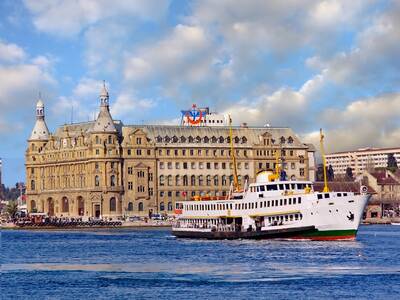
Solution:
M 399 148 L 365 148 L 356 151 L 336 152 L 326 154 L 326 165 L 332 165 L 335 175 L 346 174 L 346 169 L 350 167 L 353 175 L 361 175 L 365 170 L 386 167 L 388 154 L 400 162 Z

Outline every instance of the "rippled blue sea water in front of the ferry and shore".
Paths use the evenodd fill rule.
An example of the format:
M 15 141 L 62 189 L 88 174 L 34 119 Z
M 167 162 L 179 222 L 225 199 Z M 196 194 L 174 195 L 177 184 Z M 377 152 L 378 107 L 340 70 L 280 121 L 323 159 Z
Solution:
M 400 299 L 400 226 L 354 242 L 3 230 L 1 273 L 1 299 Z

